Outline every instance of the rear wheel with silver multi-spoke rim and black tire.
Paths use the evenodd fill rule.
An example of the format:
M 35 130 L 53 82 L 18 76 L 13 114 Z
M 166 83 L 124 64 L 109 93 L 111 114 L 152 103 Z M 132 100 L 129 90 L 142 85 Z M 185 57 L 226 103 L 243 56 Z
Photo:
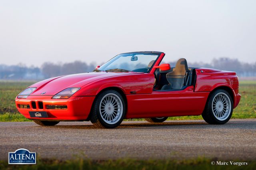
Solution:
M 210 94 L 202 117 L 212 125 L 222 125 L 229 121 L 233 113 L 233 100 L 230 94 L 218 89 Z

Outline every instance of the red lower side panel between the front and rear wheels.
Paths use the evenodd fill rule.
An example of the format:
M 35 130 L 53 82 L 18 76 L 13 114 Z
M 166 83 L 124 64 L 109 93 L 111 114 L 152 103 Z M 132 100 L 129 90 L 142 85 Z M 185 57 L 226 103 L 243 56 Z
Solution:
M 150 94 L 127 95 L 126 118 L 201 115 L 210 92 L 195 93 L 190 86 L 181 91 L 153 91 Z

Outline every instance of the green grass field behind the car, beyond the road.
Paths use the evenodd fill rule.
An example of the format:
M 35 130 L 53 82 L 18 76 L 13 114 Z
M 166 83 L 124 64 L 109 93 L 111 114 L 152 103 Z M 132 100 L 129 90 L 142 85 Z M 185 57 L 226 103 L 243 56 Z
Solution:
M 15 97 L 29 85 L 28 81 L 0 81 L 0 121 L 29 121 L 19 114 L 15 107 Z M 256 118 L 256 81 L 241 81 L 239 93 L 241 101 L 234 109 L 232 119 Z M 168 120 L 202 119 L 201 116 L 169 117 Z M 132 119 L 143 120 L 143 119 Z

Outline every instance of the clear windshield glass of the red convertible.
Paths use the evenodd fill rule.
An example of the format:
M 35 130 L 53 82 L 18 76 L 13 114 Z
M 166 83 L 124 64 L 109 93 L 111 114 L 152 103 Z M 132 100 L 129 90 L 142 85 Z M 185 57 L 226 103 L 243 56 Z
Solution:
M 147 73 L 156 61 L 158 54 L 148 53 L 124 53 L 116 55 L 99 71 L 135 71 Z

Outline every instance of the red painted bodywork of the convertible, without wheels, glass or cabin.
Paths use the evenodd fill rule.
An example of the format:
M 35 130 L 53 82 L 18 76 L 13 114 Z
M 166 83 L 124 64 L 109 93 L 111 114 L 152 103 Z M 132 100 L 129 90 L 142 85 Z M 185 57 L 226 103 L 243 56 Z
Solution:
M 164 55 L 159 55 L 155 66 L 160 64 Z M 37 89 L 26 99 L 16 97 L 16 107 L 28 119 L 84 121 L 88 119 L 95 97 L 108 88 L 122 93 L 126 101 L 126 119 L 200 115 L 211 91 L 222 87 L 231 91 L 234 108 L 240 101 L 235 72 L 198 68 L 195 69 L 194 86 L 179 91 L 158 91 L 153 90 L 155 70 L 152 68 L 149 73 L 93 72 L 46 79 L 30 86 Z M 80 90 L 69 99 L 52 99 L 68 87 L 80 87 Z M 35 109 L 32 101 L 36 102 Z M 38 109 L 38 101 L 43 102 L 42 109 Z M 19 108 L 20 104 L 30 105 L 30 109 Z M 47 105 L 66 105 L 67 109 L 47 109 Z M 29 111 L 46 111 L 48 118 L 31 118 Z

